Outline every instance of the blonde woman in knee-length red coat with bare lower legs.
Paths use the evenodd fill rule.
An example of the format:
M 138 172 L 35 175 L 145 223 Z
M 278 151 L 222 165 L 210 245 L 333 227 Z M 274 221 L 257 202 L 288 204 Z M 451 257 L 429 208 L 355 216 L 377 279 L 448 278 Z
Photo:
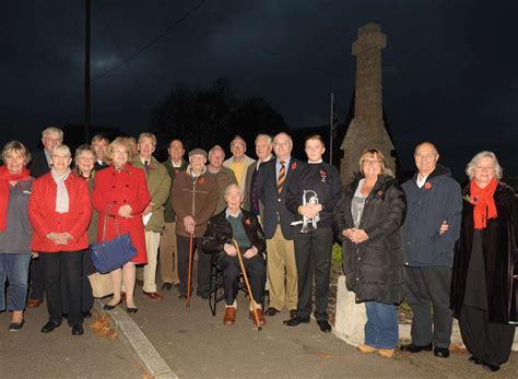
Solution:
M 121 269 L 110 272 L 114 285 L 114 297 L 104 306 L 111 310 L 120 304 L 121 281 L 123 276 L 126 286 L 126 307 L 128 312 L 136 312 L 133 292 L 136 282 L 136 264 L 148 262 L 144 239 L 144 225 L 142 212 L 151 201 L 144 171 L 128 164 L 130 147 L 126 139 L 117 138 L 108 146 L 108 159 L 111 165 L 97 173 L 95 176 L 94 191 L 92 194 L 94 209 L 98 211 L 97 240 L 103 238 L 108 205 L 108 223 L 106 225 L 106 239 L 117 236 L 116 223 L 119 233 L 130 234 L 131 242 L 137 249 L 137 256 Z

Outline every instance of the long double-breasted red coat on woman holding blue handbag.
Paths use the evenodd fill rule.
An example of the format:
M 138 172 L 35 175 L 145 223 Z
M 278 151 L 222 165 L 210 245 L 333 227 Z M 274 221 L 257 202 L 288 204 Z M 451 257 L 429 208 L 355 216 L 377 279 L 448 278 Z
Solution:
M 151 201 L 144 171 L 126 165 L 117 173 L 114 166 L 102 169 L 95 174 L 94 191 L 92 193 L 94 209 L 98 211 L 97 241 L 103 237 L 103 227 L 106 218 L 108 204 L 113 204 L 109 211 L 108 225 L 106 227 L 106 239 L 117 236 L 115 220 L 119 223 L 119 233 L 130 234 L 131 242 L 137 249 L 137 256 L 131 260 L 133 263 L 148 263 L 145 250 L 144 224 L 142 212 Z M 118 215 L 119 208 L 129 204 L 133 210 L 133 217 L 123 218 Z

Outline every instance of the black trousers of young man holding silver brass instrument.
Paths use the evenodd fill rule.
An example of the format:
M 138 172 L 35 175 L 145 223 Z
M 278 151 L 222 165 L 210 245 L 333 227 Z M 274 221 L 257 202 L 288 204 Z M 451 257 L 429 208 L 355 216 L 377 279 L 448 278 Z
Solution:
M 331 227 L 318 227 L 310 233 L 295 233 L 295 261 L 298 275 L 297 316 L 309 319 L 315 272 L 315 318 L 328 319 L 329 270 L 331 267 L 333 234 Z

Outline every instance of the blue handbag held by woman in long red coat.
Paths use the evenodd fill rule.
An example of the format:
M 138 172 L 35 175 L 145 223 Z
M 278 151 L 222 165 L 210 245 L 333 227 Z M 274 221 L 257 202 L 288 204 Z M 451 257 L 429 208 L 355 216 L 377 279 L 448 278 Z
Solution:
M 94 262 L 95 269 L 102 274 L 121 268 L 137 256 L 137 249 L 131 245 L 129 233 L 120 235 L 119 221 L 117 217 L 115 217 L 117 237 L 106 240 L 106 226 L 108 225 L 110 209 L 111 203 L 108 204 L 108 210 L 106 211 L 101 242 L 92 245 L 92 261 Z

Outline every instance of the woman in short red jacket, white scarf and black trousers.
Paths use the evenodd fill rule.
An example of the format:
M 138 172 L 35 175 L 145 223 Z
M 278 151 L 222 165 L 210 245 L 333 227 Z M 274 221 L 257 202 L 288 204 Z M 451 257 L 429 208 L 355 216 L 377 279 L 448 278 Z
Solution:
M 34 228 L 31 250 L 39 252 L 49 312 L 42 332 L 49 333 L 61 324 L 62 283 L 67 286 L 72 334 L 81 335 L 81 271 L 83 250 L 89 248 L 86 228 L 92 204 L 87 200 L 89 186 L 70 170 L 70 149 L 56 146 L 50 158 L 52 169 L 34 181 L 28 203 Z

